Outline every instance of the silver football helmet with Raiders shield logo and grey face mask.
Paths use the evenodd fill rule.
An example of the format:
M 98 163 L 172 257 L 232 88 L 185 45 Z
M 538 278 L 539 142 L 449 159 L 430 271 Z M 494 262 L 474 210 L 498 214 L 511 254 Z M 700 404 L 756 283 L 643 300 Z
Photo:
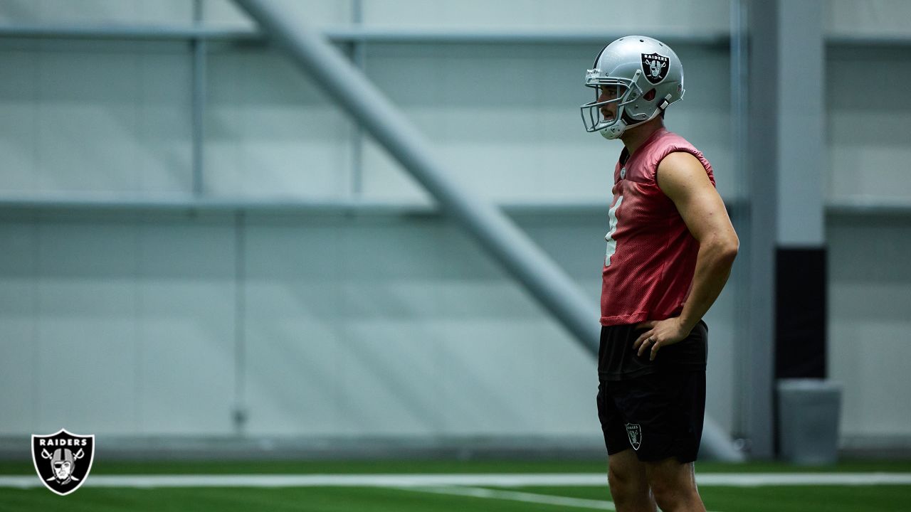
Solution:
M 683 66 L 670 46 L 658 39 L 623 36 L 595 57 L 585 85 L 595 89 L 595 101 L 580 107 L 586 131 L 619 138 L 683 97 Z M 599 101 L 602 89 L 607 99 Z M 617 105 L 616 115 L 605 117 L 601 108 L 609 104 Z

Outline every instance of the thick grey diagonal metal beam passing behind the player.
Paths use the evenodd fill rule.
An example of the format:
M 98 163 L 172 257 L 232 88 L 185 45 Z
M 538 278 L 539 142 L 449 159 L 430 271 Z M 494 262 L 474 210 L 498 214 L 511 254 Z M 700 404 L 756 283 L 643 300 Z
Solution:
M 491 202 L 463 189 L 431 154 L 430 144 L 374 84 L 326 38 L 270 0 L 235 0 L 353 118 L 430 192 L 503 268 L 590 353 L 598 354 L 598 305 Z M 711 421 L 706 448 L 717 458 L 739 454 Z M 716 432 L 717 431 L 717 432 Z M 719 442 L 719 439 L 722 439 Z

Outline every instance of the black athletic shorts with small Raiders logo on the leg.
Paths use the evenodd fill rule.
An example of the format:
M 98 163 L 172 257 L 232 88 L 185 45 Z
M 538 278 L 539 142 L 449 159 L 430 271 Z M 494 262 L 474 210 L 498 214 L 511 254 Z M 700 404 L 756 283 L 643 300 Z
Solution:
M 598 418 L 608 455 L 628 448 L 641 461 L 699 454 L 705 416 L 705 372 L 676 371 L 600 381 Z

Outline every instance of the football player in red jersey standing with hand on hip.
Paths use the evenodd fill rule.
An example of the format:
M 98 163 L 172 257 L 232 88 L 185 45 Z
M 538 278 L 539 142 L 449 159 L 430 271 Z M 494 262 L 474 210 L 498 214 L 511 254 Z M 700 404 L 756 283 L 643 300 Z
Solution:
M 669 46 L 625 36 L 585 85 L 589 132 L 623 142 L 614 168 L 601 288 L 598 414 L 619 512 L 704 511 L 693 461 L 705 413 L 708 328 L 739 241 L 711 164 L 664 128 L 683 97 Z

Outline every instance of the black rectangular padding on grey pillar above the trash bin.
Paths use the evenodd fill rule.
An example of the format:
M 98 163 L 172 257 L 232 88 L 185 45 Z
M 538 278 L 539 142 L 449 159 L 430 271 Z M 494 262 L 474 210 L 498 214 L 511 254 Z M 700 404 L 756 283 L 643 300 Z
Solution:
M 778 248 L 775 377 L 825 378 L 824 248 Z

